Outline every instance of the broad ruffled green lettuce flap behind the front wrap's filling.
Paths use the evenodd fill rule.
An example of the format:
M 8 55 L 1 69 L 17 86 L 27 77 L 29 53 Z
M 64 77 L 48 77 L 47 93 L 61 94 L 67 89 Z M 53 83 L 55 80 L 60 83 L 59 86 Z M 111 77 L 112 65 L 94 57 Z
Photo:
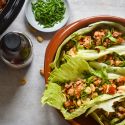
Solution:
M 69 58 L 68 61 L 55 68 L 49 77 L 49 81 L 64 83 L 84 77 L 84 72 L 91 72 L 93 69 L 81 57 Z

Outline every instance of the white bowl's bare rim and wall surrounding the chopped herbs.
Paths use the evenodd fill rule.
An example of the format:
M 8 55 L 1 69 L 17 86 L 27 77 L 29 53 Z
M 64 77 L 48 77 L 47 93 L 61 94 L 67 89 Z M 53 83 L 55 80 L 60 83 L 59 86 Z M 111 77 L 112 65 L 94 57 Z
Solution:
M 58 29 L 62 28 L 68 21 L 69 19 L 69 4 L 67 0 L 63 0 L 65 4 L 65 14 L 64 14 L 64 19 L 61 22 L 58 22 L 55 24 L 53 27 L 50 28 L 44 28 L 43 25 L 39 25 L 38 22 L 35 20 L 35 16 L 32 11 L 32 2 L 36 2 L 37 0 L 29 0 L 27 5 L 26 5 L 26 10 L 25 10 L 25 15 L 27 18 L 27 21 L 29 24 L 34 27 L 35 29 L 42 31 L 42 32 L 54 32 L 57 31 Z

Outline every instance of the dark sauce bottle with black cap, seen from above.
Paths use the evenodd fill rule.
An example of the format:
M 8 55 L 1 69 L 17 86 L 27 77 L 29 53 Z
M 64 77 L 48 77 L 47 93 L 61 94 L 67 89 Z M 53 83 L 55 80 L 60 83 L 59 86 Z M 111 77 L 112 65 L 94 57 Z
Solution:
M 9 32 L 0 40 L 1 58 L 11 67 L 23 68 L 32 62 L 33 45 L 23 33 Z

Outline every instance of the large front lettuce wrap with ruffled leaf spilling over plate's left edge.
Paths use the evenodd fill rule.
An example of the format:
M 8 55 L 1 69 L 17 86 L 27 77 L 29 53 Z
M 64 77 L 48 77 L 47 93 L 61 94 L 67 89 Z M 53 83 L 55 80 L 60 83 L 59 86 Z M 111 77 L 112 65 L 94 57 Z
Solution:
M 62 112 L 65 119 L 84 114 L 89 108 L 124 93 L 117 91 L 113 82 L 120 75 L 94 70 L 82 57 L 70 57 L 60 68 L 50 73 L 42 104 L 48 104 Z

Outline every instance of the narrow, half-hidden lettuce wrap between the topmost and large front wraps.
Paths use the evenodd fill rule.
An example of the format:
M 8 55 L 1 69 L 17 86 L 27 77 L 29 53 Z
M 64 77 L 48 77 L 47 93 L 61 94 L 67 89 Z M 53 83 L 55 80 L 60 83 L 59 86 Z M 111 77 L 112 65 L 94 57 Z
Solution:
M 123 50 L 124 51 L 124 50 Z M 125 75 L 125 55 L 119 55 L 116 52 L 104 55 L 97 60 L 90 61 L 89 65 L 95 69 L 105 67 L 107 72 L 113 72 L 121 75 Z

